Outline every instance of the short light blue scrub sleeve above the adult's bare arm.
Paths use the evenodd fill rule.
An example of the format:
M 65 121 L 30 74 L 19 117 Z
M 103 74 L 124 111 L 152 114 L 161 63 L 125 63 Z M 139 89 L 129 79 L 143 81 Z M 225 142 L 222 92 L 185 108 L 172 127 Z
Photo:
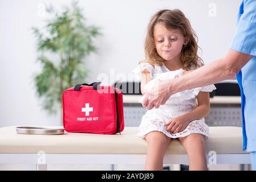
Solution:
M 244 0 L 230 48 L 256 56 L 256 1 Z

